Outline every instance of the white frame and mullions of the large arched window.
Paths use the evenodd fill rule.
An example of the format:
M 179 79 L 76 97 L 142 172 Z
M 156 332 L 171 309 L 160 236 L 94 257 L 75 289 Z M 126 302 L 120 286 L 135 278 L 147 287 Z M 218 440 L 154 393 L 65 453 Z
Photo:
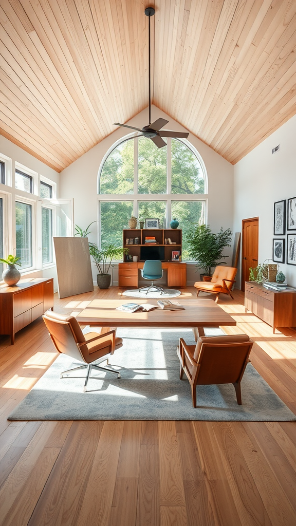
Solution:
M 207 211 L 208 211 L 208 176 L 206 174 L 206 168 L 203 162 L 202 157 L 200 156 L 199 152 L 196 150 L 196 148 L 189 142 L 189 140 L 182 139 L 180 140 L 181 143 L 183 143 L 185 146 L 187 146 L 192 153 L 195 155 L 195 157 L 198 159 L 202 175 L 204 178 L 204 193 L 203 194 L 172 194 L 171 193 L 171 139 L 167 138 L 167 156 L 166 156 L 166 173 L 167 173 L 167 188 L 166 193 L 162 194 L 139 194 L 138 193 L 138 164 L 134 162 L 134 186 L 133 186 L 133 193 L 129 194 L 100 194 L 100 180 L 101 180 L 101 174 L 104 167 L 104 164 L 107 160 L 107 158 L 110 156 L 112 151 L 120 146 L 121 144 L 125 143 L 126 141 L 129 141 L 133 139 L 134 140 L 134 159 L 138 158 L 138 140 L 137 136 L 135 136 L 134 133 L 126 135 L 124 138 L 121 138 L 117 140 L 106 152 L 104 155 L 100 168 L 98 169 L 98 177 L 97 177 L 97 194 L 98 194 L 98 245 L 102 246 L 102 239 L 101 239 L 101 207 L 104 206 L 104 203 L 132 203 L 131 206 L 131 215 L 134 215 L 135 217 L 139 218 L 139 204 L 149 202 L 149 201 L 155 201 L 155 202 L 163 202 L 166 203 L 166 217 L 164 219 L 165 224 L 163 224 L 163 228 L 167 228 L 170 225 L 170 221 L 172 219 L 171 210 L 172 205 L 174 205 L 174 202 L 180 202 L 184 201 L 186 203 L 196 203 L 200 201 L 202 203 L 202 222 L 207 222 Z M 150 140 L 150 139 L 147 139 Z M 122 225 L 123 228 L 127 228 L 128 225 Z M 180 228 L 184 229 L 184 225 L 180 224 Z M 184 241 L 184 237 L 183 237 Z

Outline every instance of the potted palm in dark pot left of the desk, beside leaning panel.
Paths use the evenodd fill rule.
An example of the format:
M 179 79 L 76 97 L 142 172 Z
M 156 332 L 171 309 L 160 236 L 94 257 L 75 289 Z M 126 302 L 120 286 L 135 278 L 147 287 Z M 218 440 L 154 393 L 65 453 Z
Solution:
M 100 289 L 107 289 L 110 287 L 111 282 L 111 274 L 108 274 L 108 271 L 112 260 L 123 257 L 123 254 L 127 254 L 129 250 L 127 248 L 116 247 L 113 243 L 101 249 L 98 248 L 95 243 L 90 243 L 89 245 L 90 255 L 98 270 L 96 277 L 97 285 Z

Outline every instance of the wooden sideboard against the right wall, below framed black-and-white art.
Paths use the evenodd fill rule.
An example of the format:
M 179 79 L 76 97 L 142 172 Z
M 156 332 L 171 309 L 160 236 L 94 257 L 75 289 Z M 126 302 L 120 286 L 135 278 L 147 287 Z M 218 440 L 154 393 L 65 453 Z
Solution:
M 245 282 L 245 312 L 251 310 L 258 318 L 276 327 L 296 327 L 296 292 L 266 289 L 254 281 Z

